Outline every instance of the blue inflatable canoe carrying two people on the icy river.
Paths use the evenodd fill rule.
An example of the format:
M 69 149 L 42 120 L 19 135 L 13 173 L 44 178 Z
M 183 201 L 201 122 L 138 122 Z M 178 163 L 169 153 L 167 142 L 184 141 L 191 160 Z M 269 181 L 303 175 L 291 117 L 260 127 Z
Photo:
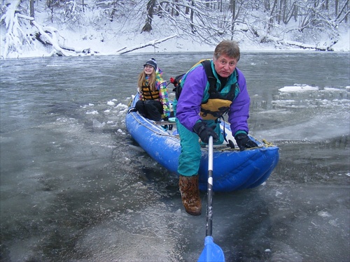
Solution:
M 130 107 L 134 107 L 138 95 L 134 96 Z M 134 140 L 162 166 L 170 172 L 177 173 L 179 155 L 181 152 L 180 139 L 177 135 L 176 124 L 171 131 L 166 130 L 159 122 L 142 117 L 137 112 L 126 116 L 127 131 Z M 226 138 L 235 142 L 230 125 L 221 123 L 225 128 Z M 214 146 L 213 179 L 214 191 L 236 191 L 258 187 L 265 182 L 279 161 L 279 147 L 267 142 L 260 142 L 251 137 L 258 147 L 239 151 L 228 145 Z M 207 190 L 208 180 L 208 150 L 202 147 L 200 163 L 200 190 Z

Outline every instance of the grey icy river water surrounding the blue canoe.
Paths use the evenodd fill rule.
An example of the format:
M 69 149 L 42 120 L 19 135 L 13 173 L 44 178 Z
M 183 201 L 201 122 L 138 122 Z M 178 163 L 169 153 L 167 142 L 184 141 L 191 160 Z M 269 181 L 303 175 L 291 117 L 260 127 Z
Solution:
M 176 176 L 125 127 L 151 57 L 169 80 L 211 53 L 0 62 L 1 261 L 197 261 L 205 192 L 186 214 Z M 241 54 L 251 134 L 281 150 L 265 184 L 214 195 L 226 261 L 350 260 L 349 58 Z

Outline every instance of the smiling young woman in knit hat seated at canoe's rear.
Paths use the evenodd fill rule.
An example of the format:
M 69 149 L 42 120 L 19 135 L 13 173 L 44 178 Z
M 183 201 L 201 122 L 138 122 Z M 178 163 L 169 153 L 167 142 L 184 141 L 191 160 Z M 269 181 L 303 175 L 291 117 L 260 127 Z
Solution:
M 139 101 L 133 111 L 153 121 L 168 119 L 170 116 L 167 82 L 162 79 L 162 71 L 157 61 L 150 59 L 144 64 L 139 75 Z

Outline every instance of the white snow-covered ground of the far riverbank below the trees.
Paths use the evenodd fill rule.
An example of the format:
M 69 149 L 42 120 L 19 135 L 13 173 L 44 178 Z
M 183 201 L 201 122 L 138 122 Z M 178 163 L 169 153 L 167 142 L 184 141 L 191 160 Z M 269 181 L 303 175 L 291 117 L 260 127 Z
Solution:
M 127 20 L 125 24 L 116 21 L 98 20 L 92 10 L 86 12 L 84 22 L 71 24 L 62 21 L 50 21 L 48 10 L 41 7 L 36 12 L 36 19 L 33 24 L 29 23 L 31 17 L 26 15 L 18 15 L 16 17 L 17 6 L 13 0 L 8 6 L 6 15 L 1 17 L 2 24 L 1 34 L 1 58 L 20 58 L 20 57 L 43 57 L 55 54 L 51 45 L 43 45 L 33 36 L 38 31 L 41 38 L 45 35 L 46 39 L 51 38 L 50 43 L 57 43 L 57 46 L 64 46 L 64 55 L 78 54 L 94 54 L 94 55 L 113 55 L 121 54 L 120 50 L 130 50 L 130 52 L 211 52 L 214 45 L 200 43 L 198 40 L 189 38 L 186 34 L 172 29 L 165 20 L 159 17 L 154 18 L 153 29 L 151 32 L 143 32 L 139 21 L 136 19 Z M 43 4 L 43 3 L 41 3 Z M 11 9 L 12 8 L 12 9 Z M 13 18 L 15 17 L 15 19 Z M 144 22 L 142 22 L 144 23 Z M 162 24 L 165 23 L 165 24 Z M 6 27 L 4 26 L 6 24 Z M 176 32 L 175 32 L 176 31 Z M 331 48 L 337 52 L 350 51 L 350 29 L 342 25 L 338 29 L 339 40 Z M 49 32 L 48 34 L 46 34 Z M 171 38 L 171 36 L 174 36 Z M 45 39 L 44 37 L 44 39 Z M 259 38 L 251 38 L 247 34 L 237 34 L 234 39 L 239 43 L 241 50 L 244 51 L 275 51 L 275 50 L 313 50 L 316 45 L 307 45 L 307 43 L 298 43 L 293 41 L 292 36 L 284 35 L 281 39 L 274 39 L 269 36 L 268 43 L 260 43 Z M 163 41 L 165 38 L 169 38 Z M 223 37 L 224 39 L 225 37 Z M 160 43 L 158 43 L 158 42 Z M 315 41 L 314 41 L 315 42 Z M 321 48 L 329 46 L 332 39 L 325 32 L 316 42 Z M 301 49 L 298 45 L 302 45 L 306 49 Z M 78 52 L 67 51 L 67 49 Z M 59 49 L 59 48 L 58 48 Z M 88 50 L 87 52 L 82 52 Z

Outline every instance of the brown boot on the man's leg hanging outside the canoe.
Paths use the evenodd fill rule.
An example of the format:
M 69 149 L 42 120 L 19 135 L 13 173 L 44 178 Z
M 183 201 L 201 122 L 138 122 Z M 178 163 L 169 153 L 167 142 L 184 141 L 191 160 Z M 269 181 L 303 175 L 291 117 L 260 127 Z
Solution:
M 202 203 L 200 201 L 200 188 L 198 185 L 199 175 L 186 177 L 180 175 L 179 187 L 183 206 L 188 214 L 198 216 L 202 214 Z

